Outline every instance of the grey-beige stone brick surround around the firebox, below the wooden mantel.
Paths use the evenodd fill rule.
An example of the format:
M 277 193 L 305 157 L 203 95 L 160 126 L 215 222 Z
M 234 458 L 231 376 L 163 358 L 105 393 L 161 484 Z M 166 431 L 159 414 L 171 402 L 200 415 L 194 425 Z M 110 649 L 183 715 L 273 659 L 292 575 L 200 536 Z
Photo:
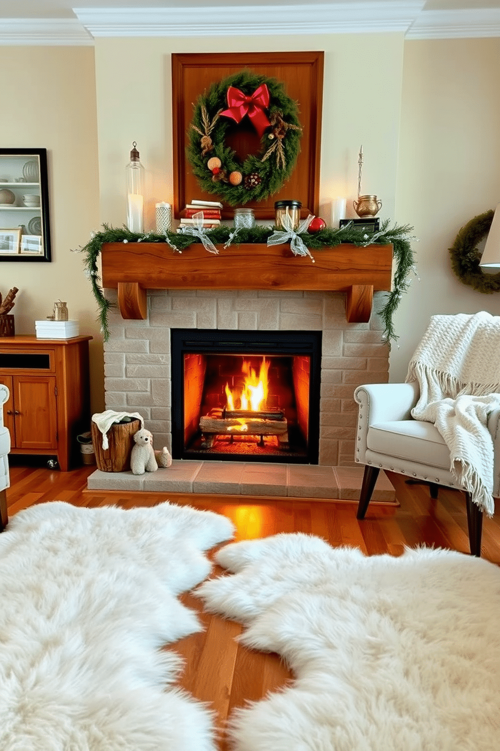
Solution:
M 106 296 L 117 300 L 115 290 L 107 289 Z M 349 324 L 342 292 L 149 290 L 145 320 L 124 320 L 118 308 L 109 313 L 111 336 L 104 347 L 106 409 L 139 412 L 145 427 L 154 433 L 155 448 L 171 448 L 171 328 L 322 330 L 319 467 L 301 466 L 295 472 L 302 476 L 308 469 L 316 472 L 318 481 L 313 484 L 332 468 L 334 472 L 337 468 L 337 475 L 344 468 L 348 478 L 358 476 L 361 468 L 354 462 L 357 406 L 352 395 L 359 384 L 388 381 L 388 345 L 381 341 L 382 321 L 376 312 L 380 300 L 376 294 L 369 323 Z M 109 488 L 114 481 L 117 489 L 122 488 L 116 473 L 102 478 L 104 474 L 91 475 L 88 487 Z M 142 481 L 130 479 L 136 481 L 134 488 Z M 350 496 L 347 492 L 348 497 L 357 496 L 360 481 Z M 148 489 L 158 490 L 156 486 Z M 139 487 L 147 489 L 143 483 Z M 391 485 L 386 478 L 381 487 L 379 499 L 389 499 Z M 323 495 L 328 497 L 328 493 Z

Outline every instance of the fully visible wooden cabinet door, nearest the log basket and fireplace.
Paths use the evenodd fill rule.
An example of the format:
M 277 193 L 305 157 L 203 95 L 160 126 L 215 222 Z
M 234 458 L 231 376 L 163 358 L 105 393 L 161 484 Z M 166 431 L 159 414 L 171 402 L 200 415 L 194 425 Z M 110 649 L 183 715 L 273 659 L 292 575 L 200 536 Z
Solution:
M 14 375 L 16 448 L 57 448 L 55 377 Z

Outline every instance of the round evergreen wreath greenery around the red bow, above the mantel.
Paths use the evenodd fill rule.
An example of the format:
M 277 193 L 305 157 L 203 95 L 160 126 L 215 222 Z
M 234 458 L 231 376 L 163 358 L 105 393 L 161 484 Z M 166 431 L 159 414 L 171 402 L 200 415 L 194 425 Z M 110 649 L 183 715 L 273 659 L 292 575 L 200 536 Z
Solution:
M 229 86 L 235 86 L 250 96 L 261 83 L 265 83 L 269 90 L 269 119 L 272 122 L 274 116 L 279 115 L 289 126 L 280 140 L 283 146 L 284 167 L 278 161 L 276 152 L 263 161 L 266 152 L 275 143 L 274 131 L 265 131 L 261 139 L 261 152 L 247 156 L 243 164 L 238 161 L 233 149 L 225 143 L 228 129 L 235 127 L 234 120 L 219 116 L 220 110 L 227 107 L 227 89 Z M 204 143 L 207 142 L 203 140 L 205 136 L 202 134 L 206 134 L 211 141 L 211 148 L 207 152 L 204 148 Z M 229 206 L 244 206 L 249 201 L 264 201 L 269 195 L 279 191 L 283 183 L 289 179 L 300 151 L 301 123 L 298 119 L 297 103 L 286 95 L 282 83 L 274 78 L 257 76 L 250 71 L 240 71 L 214 83 L 206 94 L 199 97 L 188 135 L 187 158 L 200 187 L 207 193 L 219 196 Z M 273 136 L 272 139 L 270 135 Z M 218 175 L 214 179 L 207 166 L 208 160 L 214 156 L 220 159 L 226 175 L 229 176 L 232 172 L 242 173 L 240 185 L 231 185 L 219 179 Z M 258 176 L 257 185 L 245 185 L 245 177 L 248 178 L 250 175 Z

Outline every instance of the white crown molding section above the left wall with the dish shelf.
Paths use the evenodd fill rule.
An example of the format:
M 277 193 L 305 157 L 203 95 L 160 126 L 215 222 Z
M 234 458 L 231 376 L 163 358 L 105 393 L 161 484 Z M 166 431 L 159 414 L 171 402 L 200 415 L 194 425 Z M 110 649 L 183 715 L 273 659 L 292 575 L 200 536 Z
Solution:
M 91 45 L 94 40 L 76 18 L 2 18 L 0 45 L 75 46 Z

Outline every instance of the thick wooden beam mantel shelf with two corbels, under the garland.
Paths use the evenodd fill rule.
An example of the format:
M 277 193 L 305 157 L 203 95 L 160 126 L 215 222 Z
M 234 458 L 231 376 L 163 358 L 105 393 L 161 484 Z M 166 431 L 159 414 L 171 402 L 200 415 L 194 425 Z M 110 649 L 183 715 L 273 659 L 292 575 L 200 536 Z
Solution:
M 219 255 L 193 243 L 181 254 L 166 243 L 104 243 L 104 288 L 118 290 L 123 318 L 147 317 L 148 289 L 345 291 L 349 323 L 370 320 L 374 291 L 390 291 L 392 245 L 352 244 L 312 250 L 316 263 L 289 245 L 234 245 Z

